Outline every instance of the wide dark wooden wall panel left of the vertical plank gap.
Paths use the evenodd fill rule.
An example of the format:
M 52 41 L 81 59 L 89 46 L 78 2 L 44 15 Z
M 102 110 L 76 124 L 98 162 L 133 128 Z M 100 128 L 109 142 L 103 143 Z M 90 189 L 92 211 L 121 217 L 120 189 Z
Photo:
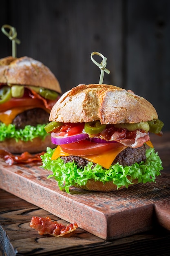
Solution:
M 21 40 L 18 57 L 26 55 L 46 64 L 63 92 L 79 83 L 99 82 L 100 70 L 90 58 L 94 51 L 108 58 L 112 72 L 105 74 L 105 83 L 121 84 L 121 1 L 9 0 L 3 5 L 6 16 L 2 22 L 13 24 Z M 10 54 L 9 39 L 2 37 L 5 52 Z

